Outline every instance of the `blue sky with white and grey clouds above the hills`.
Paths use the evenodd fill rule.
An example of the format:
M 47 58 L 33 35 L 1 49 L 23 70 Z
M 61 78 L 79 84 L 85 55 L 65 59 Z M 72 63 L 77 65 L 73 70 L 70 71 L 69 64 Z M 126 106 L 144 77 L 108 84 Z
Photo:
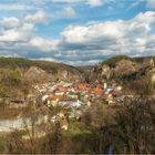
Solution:
M 0 0 L 0 56 L 92 65 L 155 55 L 155 0 Z

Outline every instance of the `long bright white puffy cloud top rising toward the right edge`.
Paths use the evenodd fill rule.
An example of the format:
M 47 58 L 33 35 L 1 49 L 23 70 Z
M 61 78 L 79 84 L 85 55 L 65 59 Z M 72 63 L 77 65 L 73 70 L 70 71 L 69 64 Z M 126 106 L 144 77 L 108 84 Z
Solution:
M 130 21 L 106 21 L 89 25 L 70 25 L 61 33 L 68 43 L 89 43 L 102 39 L 137 38 L 147 35 L 155 22 L 155 12 L 140 13 Z

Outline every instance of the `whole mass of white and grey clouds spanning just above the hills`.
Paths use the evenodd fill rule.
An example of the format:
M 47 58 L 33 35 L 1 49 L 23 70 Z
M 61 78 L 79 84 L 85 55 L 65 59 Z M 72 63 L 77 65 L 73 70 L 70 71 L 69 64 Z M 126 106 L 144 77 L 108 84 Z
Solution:
M 131 20 L 70 25 L 60 39 L 43 39 L 35 25 L 49 19 L 45 12 L 6 18 L 0 25 L 1 55 L 51 59 L 70 64 L 93 64 L 114 54 L 155 54 L 155 12 L 140 13 Z M 13 23 L 11 21 L 14 21 Z M 51 32 L 52 33 L 52 32 Z

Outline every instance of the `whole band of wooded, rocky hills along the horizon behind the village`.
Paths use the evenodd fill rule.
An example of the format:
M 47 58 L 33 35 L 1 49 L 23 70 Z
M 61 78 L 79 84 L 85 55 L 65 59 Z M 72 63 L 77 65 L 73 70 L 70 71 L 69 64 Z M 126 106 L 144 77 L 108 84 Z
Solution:
M 52 78 L 64 78 L 71 80 L 72 78 L 79 80 L 86 80 L 87 76 L 91 81 L 94 78 L 115 78 L 115 79 L 135 79 L 148 72 L 148 69 L 154 65 L 152 61 L 155 61 L 154 56 L 147 58 L 128 58 L 125 55 L 113 56 L 99 63 L 95 66 L 72 66 L 63 63 L 54 63 L 46 61 L 33 61 L 21 58 L 0 58 L 0 70 L 20 70 L 22 74 L 27 73 L 31 78 L 30 73 L 40 70 L 41 74 L 44 72 L 44 76 L 48 74 Z

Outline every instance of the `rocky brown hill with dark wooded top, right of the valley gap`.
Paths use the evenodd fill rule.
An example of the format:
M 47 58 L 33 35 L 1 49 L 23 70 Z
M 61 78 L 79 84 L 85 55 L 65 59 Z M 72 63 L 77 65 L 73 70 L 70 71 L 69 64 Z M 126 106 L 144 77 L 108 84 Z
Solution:
M 93 68 L 90 80 L 135 81 L 142 78 L 155 76 L 155 56 L 127 58 L 118 55 L 111 58 Z

